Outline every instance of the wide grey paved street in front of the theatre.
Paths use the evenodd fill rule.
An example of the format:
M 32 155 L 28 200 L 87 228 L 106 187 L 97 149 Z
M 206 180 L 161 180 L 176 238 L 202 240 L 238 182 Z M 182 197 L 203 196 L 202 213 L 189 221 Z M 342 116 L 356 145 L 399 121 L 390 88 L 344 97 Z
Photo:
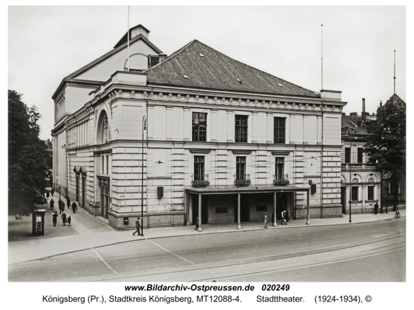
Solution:
M 402 217 L 355 225 L 141 238 L 9 263 L 9 281 L 404 281 L 405 231 Z M 362 278 L 366 273 L 371 278 Z

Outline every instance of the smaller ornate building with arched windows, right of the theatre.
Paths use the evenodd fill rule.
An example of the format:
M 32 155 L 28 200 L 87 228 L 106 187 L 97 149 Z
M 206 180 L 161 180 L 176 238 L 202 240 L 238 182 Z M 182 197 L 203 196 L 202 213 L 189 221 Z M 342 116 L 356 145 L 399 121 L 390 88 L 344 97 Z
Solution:
M 375 113 L 365 112 L 365 99 L 362 99 L 362 114 L 342 113 L 342 174 L 341 202 L 342 213 L 373 213 L 374 204 L 381 206 L 382 175 L 375 162 L 370 162 L 363 152 L 368 132 L 366 119 L 375 119 Z M 350 195 L 351 182 L 351 195 Z

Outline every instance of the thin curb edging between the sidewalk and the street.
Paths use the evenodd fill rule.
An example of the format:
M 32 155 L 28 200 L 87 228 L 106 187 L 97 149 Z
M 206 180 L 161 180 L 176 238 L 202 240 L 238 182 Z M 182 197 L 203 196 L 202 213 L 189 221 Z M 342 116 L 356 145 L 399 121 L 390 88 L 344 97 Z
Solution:
M 406 217 L 406 216 L 402 216 L 401 218 Z M 366 223 L 374 223 L 374 222 L 384 222 L 384 221 L 390 221 L 390 220 L 397 220 L 395 218 L 389 218 L 389 219 L 385 219 L 385 220 L 377 220 L 377 221 L 367 221 L 367 222 L 357 222 L 357 223 L 343 223 L 343 224 L 327 224 L 327 225 L 322 225 L 322 224 L 318 224 L 318 225 L 305 225 L 305 226 L 290 226 L 287 227 L 286 229 L 303 229 L 303 228 L 307 228 L 307 227 L 322 227 L 322 226 L 339 226 L 339 225 L 348 225 L 348 224 L 366 224 Z M 103 221 L 101 221 L 103 222 Z M 212 234 L 219 234 L 219 233 L 248 233 L 250 231 L 262 231 L 263 229 L 249 229 L 248 231 L 212 231 L 210 233 L 205 233 L 206 235 L 212 235 Z M 271 231 L 272 229 L 270 229 Z M 201 232 L 203 233 L 203 232 Z M 194 235 L 202 235 L 202 234 L 194 234 Z M 194 236 L 192 235 L 192 236 Z M 59 254 L 55 254 L 55 255 L 49 255 L 49 256 L 45 256 L 44 258 L 36 258 L 34 260 L 25 260 L 23 262 L 34 262 L 35 260 L 45 260 L 46 258 L 54 258 L 56 256 L 60 256 L 60 255 L 65 255 L 65 254 L 70 254 L 70 253 L 77 253 L 77 252 L 81 252 L 81 251 L 86 251 L 86 250 L 90 250 L 90 249 L 99 249 L 102 248 L 103 246 L 111 246 L 111 245 L 115 245 L 115 244 L 122 244 L 122 243 L 128 243 L 128 242 L 137 242 L 137 241 L 144 241 L 144 240 L 154 240 L 154 239 L 164 239 L 164 238 L 178 238 L 178 237 L 187 237 L 189 235 L 167 235 L 167 236 L 159 236 L 159 237 L 150 237 L 150 238 L 144 238 L 144 239 L 137 239 L 137 240 L 126 240 L 126 241 L 119 241 L 119 242 L 114 242 L 114 243 L 110 243 L 110 244 L 103 244 L 103 245 L 99 245 L 99 246 L 92 246 L 92 247 L 87 247 L 84 249 L 79 249 L 79 250 L 75 250 L 75 251 L 70 251 L 70 252 L 65 252 L 65 253 L 59 253 Z M 16 262 L 13 264 L 21 264 L 23 262 Z

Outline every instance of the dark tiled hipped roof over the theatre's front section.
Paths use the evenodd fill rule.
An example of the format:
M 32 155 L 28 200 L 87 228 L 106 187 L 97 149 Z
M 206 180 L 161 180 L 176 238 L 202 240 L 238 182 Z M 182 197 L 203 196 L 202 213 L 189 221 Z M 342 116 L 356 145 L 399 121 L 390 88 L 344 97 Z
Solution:
M 197 40 L 191 41 L 146 72 L 149 84 L 320 97 L 319 93 L 315 94 L 312 90 L 242 64 Z

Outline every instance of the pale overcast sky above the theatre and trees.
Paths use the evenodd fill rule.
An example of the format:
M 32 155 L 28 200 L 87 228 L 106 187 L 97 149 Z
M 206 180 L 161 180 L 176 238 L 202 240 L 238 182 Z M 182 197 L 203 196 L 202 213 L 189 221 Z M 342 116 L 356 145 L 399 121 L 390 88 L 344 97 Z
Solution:
M 406 101 L 404 6 L 131 6 L 167 55 L 193 39 L 313 91 L 342 91 L 343 112 L 374 113 L 394 93 Z M 323 25 L 323 26 L 321 26 Z M 127 6 L 9 6 L 8 89 L 37 106 L 51 139 L 61 80 L 112 50 Z M 322 66 L 323 55 L 323 66 Z M 108 79 L 103 78 L 103 80 Z

